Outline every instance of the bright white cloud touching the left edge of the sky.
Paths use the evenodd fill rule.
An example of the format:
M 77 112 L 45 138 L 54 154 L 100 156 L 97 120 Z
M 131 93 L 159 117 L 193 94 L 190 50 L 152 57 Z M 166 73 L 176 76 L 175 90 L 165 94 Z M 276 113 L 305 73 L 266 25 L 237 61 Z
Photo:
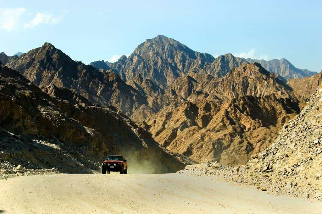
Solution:
M 26 11 L 25 8 L 0 8 L 0 29 L 11 31 L 17 28 L 20 17 Z

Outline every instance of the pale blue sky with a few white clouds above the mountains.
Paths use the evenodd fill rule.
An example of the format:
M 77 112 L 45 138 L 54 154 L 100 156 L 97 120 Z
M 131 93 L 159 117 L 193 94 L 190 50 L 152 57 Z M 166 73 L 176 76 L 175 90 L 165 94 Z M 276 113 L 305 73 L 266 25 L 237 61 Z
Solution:
M 115 61 L 158 34 L 214 57 L 286 58 L 322 70 L 322 1 L 0 0 L 0 52 L 52 43 L 73 60 Z

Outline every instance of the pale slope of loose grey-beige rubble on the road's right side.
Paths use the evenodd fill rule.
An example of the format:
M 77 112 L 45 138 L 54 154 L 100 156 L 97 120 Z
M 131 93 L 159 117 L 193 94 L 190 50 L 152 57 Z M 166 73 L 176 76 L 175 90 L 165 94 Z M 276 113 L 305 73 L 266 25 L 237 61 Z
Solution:
M 180 173 L 221 175 L 227 180 L 272 191 L 322 200 L 322 88 L 289 120 L 274 143 L 253 155 L 246 165 L 225 167 L 217 163 L 187 166 Z

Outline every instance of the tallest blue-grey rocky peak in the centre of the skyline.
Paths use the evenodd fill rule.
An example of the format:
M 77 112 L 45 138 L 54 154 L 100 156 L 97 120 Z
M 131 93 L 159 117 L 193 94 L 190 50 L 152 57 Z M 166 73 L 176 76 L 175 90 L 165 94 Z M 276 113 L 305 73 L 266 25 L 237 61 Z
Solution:
M 158 35 L 137 46 L 125 61 L 119 60 L 111 68 L 118 70 L 124 80 L 140 74 L 166 89 L 176 78 L 189 70 L 202 69 L 213 60 L 210 54 L 193 51 L 174 39 Z

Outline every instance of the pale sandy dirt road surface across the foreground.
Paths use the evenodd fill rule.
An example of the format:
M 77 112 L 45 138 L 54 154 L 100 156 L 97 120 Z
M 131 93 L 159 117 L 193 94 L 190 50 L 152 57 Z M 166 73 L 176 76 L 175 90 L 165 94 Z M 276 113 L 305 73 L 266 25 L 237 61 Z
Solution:
M 322 203 L 274 196 L 215 177 L 35 175 L 0 180 L 0 213 L 320 213 Z

